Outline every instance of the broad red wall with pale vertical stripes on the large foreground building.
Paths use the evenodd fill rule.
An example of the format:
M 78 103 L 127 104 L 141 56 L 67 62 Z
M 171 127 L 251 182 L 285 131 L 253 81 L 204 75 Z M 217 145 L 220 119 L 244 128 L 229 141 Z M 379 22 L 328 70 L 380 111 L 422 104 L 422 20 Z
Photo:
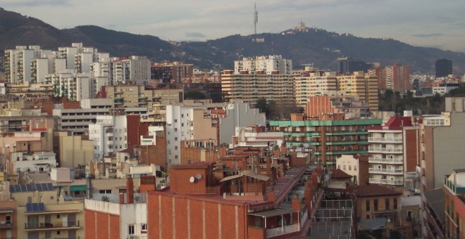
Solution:
M 173 233 L 176 238 L 187 238 L 188 235 L 190 238 L 203 238 L 204 228 L 206 238 L 218 238 L 220 228 L 222 238 L 236 238 L 236 234 L 237 238 L 247 238 L 247 207 L 244 204 L 158 191 L 149 192 L 147 197 L 148 238 L 159 238 L 160 226 L 163 228 L 162 238 L 173 238 Z

